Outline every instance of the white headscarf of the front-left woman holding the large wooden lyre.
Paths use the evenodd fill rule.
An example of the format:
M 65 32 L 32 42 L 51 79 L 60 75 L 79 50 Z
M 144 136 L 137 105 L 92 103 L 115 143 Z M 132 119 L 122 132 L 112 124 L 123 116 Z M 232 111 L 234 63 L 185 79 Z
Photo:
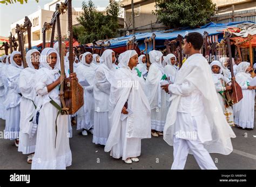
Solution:
M 51 47 L 46 47 L 46 48 L 43 49 L 43 51 L 41 53 L 41 56 L 40 56 L 40 59 L 39 59 L 41 67 L 52 70 L 51 66 L 47 62 L 47 57 L 51 53 L 56 53 L 57 54 L 57 62 L 56 62 L 55 67 L 53 69 L 54 70 L 60 70 L 60 60 L 59 60 L 58 52 L 56 51 L 56 49 L 53 49 Z

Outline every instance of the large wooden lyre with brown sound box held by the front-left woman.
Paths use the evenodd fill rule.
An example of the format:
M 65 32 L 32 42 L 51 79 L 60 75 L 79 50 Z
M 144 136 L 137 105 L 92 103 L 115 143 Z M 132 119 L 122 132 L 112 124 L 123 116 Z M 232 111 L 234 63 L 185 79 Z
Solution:
M 63 14 L 68 10 L 68 35 L 69 35 L 69 74 L 73 73 L 73 29 L 72 29 L 72 2 L 71 0 L 65 0 L 64 3 L 56 4 L 56 11 L 53 13 L 50 25 L 52 26 L 51 44 L 53 46 L 53 39 L 55 34 L 55 25 L 57 23 L 58 32 L 58 45 L 59 45 L 59 57 L 60 57 L 60 102 L 62 104 L 62 114 L 74 114 L 84 104 L 83 87 L 78 83 L 77 79 L 71 77 L 65 77 L 64 67 L 64 50 L 65 46 L 62 44 L 62 34 L 60 31 L 60 14 Z

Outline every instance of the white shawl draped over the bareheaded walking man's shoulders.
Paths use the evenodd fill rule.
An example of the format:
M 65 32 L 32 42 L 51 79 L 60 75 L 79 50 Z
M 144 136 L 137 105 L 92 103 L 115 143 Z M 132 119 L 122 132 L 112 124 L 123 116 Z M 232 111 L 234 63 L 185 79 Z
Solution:
M 211 68 L 203 55 L 191 55 L 178 71 L 174 84 L 180 85 L 186 82 L 193 84 L 203 95 L 205 114 L 212 130 L 212 141 L 204 142 L 204 147 L 209 153 L 230 154 L 233 150 L 230 138 L 235 138 L 235 134 L 226 121 L 220 103 L 217 102 L 218 96 Z M 171 146 L 173 146 L 174 125 L 181 97 L 172 94 L 171 106 L 166 117 L 164 140 Z

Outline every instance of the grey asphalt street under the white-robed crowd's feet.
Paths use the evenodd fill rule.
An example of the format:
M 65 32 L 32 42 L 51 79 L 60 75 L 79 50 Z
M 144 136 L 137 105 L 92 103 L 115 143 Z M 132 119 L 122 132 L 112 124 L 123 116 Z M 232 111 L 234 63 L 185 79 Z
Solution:
M 4 130 L 4 120 L 0 120 L 0 131 Z M 237 138 L 232 139 L 234 151 L 230 155 L 211 154 L 219 169 L 256 169 L 256 135 L 253 131 L 233 127 Z M 247 138 L 245 138 L 247 133 Z M 113 159 L 104 152 L 103 146 L 92 143 L 92 135 L 83 136 L 73 126 L 70 139 L 72 166 L 67 169 L 170 169 L 173 161 L 173 148 L 158 138 L 142 140 L 142 155 L 138 163 L 126 164 Z M 0 169 L 30 169 L 26 155 L 17 152 L 14 141 L 0 140 Z M 193 155 L 188 155 L 185 169 L 199 169 Z

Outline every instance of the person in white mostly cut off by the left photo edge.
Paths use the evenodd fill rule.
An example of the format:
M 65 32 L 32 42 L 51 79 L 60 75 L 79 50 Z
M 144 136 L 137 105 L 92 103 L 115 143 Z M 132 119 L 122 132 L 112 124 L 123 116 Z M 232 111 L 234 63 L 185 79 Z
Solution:
M 2 80 L 2 69 L 5 67 L 5 63 L 6 63 L 6 56 L 7 55 L 3 55 L 0 57 L 0 103 L 2 103 L 0 105 L 0 118 L 5 119 L 5 115 L 4 115 L 4 105 L 3 102 L 5 100 L 5 89 L 4 89 L 4 81 Z

